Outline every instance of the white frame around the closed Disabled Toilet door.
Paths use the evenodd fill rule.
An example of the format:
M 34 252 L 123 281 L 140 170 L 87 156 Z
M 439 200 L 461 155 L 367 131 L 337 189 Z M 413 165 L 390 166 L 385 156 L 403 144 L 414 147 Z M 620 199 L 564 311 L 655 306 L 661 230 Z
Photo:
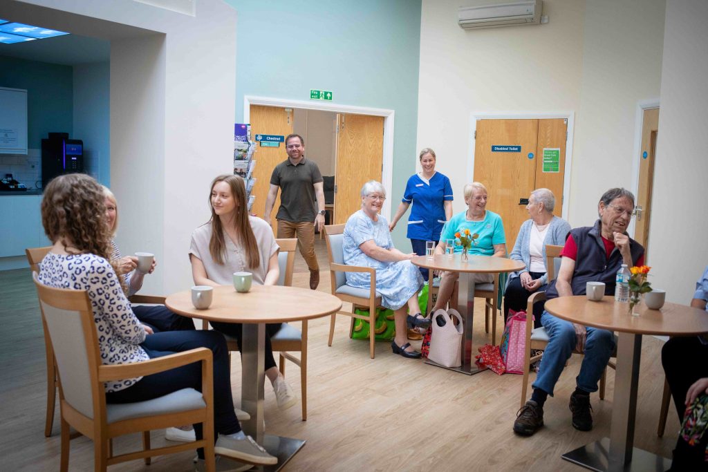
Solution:
M 508 112 L 508 113 L 486 113 L 472 112 L 469 115 L 469 160 L 467 161 L 467 175 L 470 182 L 474 180 L 474 134 L 477 131 L 477 120 L 544 120 L 549 118 L 565 118 L 568 120 L 566 131 L 568 139 L 566 139 L 566 160 L 565 172 L 563 173 L 563 204 L 561 207 L 561 218 L 568 221 L 568 209 L 571 195 L 571 168 L 573 167 L 573 137 L 575 131 L 575 112 Z M 535 159 L 538 159 L 536 156 Z

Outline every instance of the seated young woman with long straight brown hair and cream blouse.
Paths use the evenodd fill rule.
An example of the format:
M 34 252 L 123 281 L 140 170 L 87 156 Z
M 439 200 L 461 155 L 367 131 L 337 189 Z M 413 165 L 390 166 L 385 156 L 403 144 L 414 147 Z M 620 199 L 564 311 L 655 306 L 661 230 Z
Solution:
M 253 283 L 278 283 L 278 244 L 273 230 L 263 219 L 251 217 L 246 200 L 244 179 L 238 175 L 219 175 L 212 181 L 209 194 L 210 221 L 194 230 L 189 248 L 192 276 L 198 285 L 230 285 L 234 272 L 251 272 Z M 241 345 L 240 323 L 211 323 Z M 285 410 L 297 403 L 297 396 L 283 378 L 273 357 L 270 337 L 282 323 L 265 325 L 265 375 L 273 384 L 278 408 Z

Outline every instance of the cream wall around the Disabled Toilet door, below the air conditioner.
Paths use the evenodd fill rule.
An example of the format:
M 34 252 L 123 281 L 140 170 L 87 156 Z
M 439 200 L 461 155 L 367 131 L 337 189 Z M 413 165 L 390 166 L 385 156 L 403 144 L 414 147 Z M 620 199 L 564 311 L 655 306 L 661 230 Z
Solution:
M 457 212 L 472 178 L 472 113 L 573 112 L 566 216 L 586 226 L 607 188 L 632 184 L 636 104 L 659 93 L 664 0 L 543 3 L 546 25 L 468 32 L 457 26 L 459 1 L 423 1 L 418 149 L 435 149 Z

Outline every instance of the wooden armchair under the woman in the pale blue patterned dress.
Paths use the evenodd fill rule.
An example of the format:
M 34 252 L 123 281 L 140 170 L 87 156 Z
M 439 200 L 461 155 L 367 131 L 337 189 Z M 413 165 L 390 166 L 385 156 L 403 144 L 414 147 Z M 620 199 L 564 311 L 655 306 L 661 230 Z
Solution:
M 332 294 L 341 301 L 348 301 L 352 304 L 352 311 L 338 311 L 332 315 L 329 323 L 328 346 L 332 345 L 334 338 L 334 323 L 338 314 L 351 317 L 349 326 L 349 337 L 354 330 L 354 318 L 359 318 L 369 322 L 369 326 L 376 326 L 376 309 L 381 306 L 381 295 L 376 292 L 376 271 L 371 267 L 360 267 L 357 265 L 345 265 L 343 253 L 344 224 L 331 224 L 324 227 L 325 241 L 327 242 L 327 256 L 329 258 L 329 275 L 332 284 Z M 367 289 L 357 289 L 346 284 L 345 272 L 367 272 L 371 276 L 371 287 Z M 369 316 L 354 313 L 357 308 L 369 310 Z M 375 351 L 375 330 L 369 330 L 369 353 L 374 358 Z

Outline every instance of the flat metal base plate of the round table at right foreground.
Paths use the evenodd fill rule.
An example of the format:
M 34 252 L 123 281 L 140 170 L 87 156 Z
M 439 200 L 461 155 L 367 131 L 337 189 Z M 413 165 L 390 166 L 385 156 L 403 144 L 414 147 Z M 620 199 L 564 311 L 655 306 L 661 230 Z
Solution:
M 599 441 L 591 442 L 583 447 L 578 447 L 573 451 L 566 452 L 561 457 L 573 464 L 589 468 L 591 471 L 607 472 L 610 456 L 610 438 L 603 437 Z M 622 472 L 664 472 L 671 466 L 671 460 L 661 456 L 651 454 L 634 447 L 632 449 L 632 461 L 624 467 L 615 470 Z

